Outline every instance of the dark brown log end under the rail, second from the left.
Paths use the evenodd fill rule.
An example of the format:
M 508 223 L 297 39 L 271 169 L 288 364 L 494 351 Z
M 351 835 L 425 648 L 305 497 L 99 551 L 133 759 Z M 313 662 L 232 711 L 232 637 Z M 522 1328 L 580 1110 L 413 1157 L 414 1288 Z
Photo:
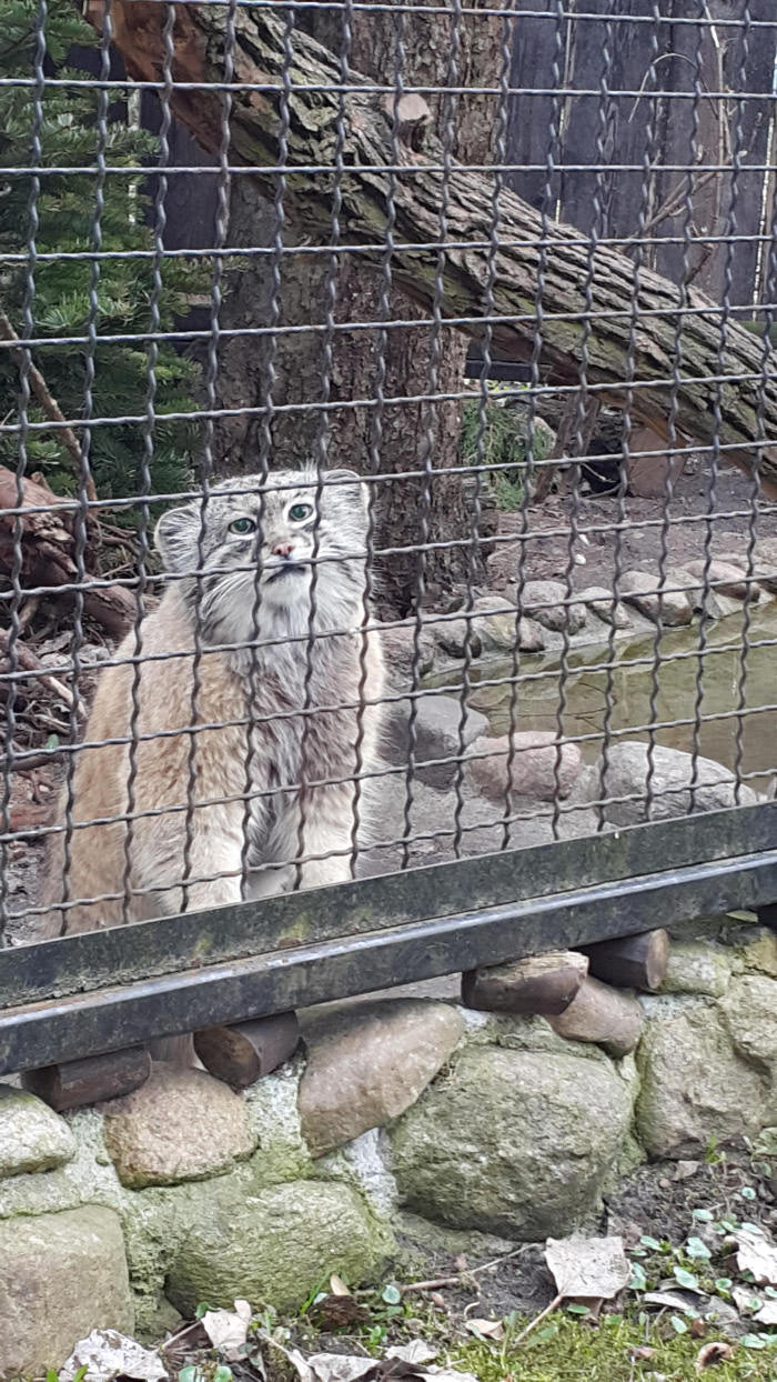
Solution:
M 283 1066 L 297 1050 L 297 1013 L 275 1013 L 248 1023 L 204 1027 L 195 1032 L 195 1050 L 206 1070 L 236 1089 Z

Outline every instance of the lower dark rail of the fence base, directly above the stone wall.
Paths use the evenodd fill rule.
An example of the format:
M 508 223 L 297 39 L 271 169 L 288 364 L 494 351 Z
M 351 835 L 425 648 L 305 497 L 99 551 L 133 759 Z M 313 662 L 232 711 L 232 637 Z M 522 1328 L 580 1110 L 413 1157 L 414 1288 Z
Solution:
M 591 842 L 588 842 L 591 843 Z M 413 879 L 413 875 L 410 875 Z M 75 994 L 0 1013 L 0 1074 L 244 1021 L 777 897 L 777 850 Z

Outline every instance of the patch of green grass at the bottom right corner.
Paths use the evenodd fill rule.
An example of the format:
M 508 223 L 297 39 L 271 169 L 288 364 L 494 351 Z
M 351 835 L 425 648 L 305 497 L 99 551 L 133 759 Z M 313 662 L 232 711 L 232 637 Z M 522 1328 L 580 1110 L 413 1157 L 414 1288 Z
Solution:
M 480 1382 L 691 1382 L 697 1378 L 700 1347 L 720 1335 L 707 1332 L 696 1339 L 676 1335 L 669 1320 L 645 1325 L 638 1318 L 603 1316 L 593 1325 L 569 1314 L 558 1314 L 537 1327 L 518 1345 L 508 1329 L 504 1343 L 472 1339 L 451 1347 L 450 1363 L 473 1372 Z M 777 1345 L 777 1338 L 776 1338 Z M 649 1359 L 633 1349 L 656 1349 Z M 776 1382 L 777 1347 L 748 1349 L 741 1343 L 727 1363 L 716 1363 L 702 1374 L 709 1382 Z

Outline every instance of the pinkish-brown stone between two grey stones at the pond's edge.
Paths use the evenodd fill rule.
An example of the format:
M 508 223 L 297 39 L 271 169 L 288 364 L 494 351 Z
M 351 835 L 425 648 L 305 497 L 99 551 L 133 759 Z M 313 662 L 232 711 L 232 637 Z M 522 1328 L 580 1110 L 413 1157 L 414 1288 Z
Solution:
M 582 763 L 577 744 L 562 744 L 552 730 L 524 730 L 512 735 L 476 739 L 468 759 L 468 774 L 484 796 L 504 802 L 508 782 L 511 793 L 552 802 L 570 795 Z M 479 756 L 484 755 L 484 756 Z

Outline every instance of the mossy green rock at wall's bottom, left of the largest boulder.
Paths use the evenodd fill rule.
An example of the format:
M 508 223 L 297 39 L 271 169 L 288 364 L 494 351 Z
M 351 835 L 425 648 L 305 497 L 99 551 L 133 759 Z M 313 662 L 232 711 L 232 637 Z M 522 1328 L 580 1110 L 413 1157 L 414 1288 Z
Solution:
M 244 1198 L 232 1177 L 197 1189 L 207 1194 L 167 1267 L 167 1295 L 186 1317 L 200 1300 L 236 1298 L 294 1310 L 333 1271 L 374 1280 L 393 1249 L 351 1186 L 295 1180 Z

